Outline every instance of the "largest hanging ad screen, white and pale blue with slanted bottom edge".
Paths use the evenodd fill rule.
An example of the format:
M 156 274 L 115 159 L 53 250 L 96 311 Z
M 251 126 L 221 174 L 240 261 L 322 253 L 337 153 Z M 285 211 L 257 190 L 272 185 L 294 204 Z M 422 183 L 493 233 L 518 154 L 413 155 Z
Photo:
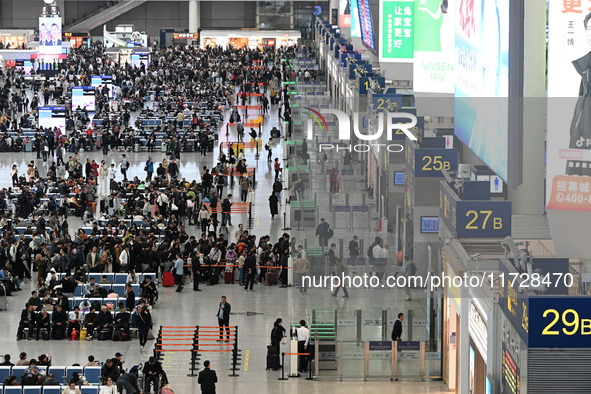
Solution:
M 510 0 L 456 2 L 454 133 L 508 176 Z

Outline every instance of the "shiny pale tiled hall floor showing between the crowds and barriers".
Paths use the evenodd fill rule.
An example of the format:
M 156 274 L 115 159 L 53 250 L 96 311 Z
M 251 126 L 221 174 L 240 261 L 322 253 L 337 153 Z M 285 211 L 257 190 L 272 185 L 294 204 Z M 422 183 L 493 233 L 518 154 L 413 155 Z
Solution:
M 278 125 L 276 110 L 272 111 L 271 116 L 263 128 L 263 140 L 267 140 L 269 130 L 272 126 Z M 224 135 L 222 134 L 222 138 Z M 275 148 L 274 154 L 279 155 L 282 147 Z M 271 234 L 272 238 L 278 237 L 282 233 L 283 222 L 279 219 L 270 220 L 267 198 L 271 194 L 272 168 L 267 165 L 266 160 L 254 159 L 254 151 L 247 151 L 247 163 L 256 166 L 257 180 L 259 181 L 256 189 L 256 204 L 254 209 L 254 234 L 261 236 Z M 128 159 L 131 162 L 131 168 L 128 176 L 138 175 L 140 178 L 145 176 L 143 163 L 148 157 L 147 153 L 129 153 Z M 163 158 L 161 153 L 152 155 L 158 162 Z M 216 155 L 217 156 L 217 155 Z M 84 158 L 90 157 L 102 159 L 101 152 L 91 152 L 83 154 Z M 8 176 L 10 167 L 13 164 L 19 165 L 20 172 L 24 172 L 26 165 L 30 160 L 35 159 L 34 153 L 19 154 L 0 154 L 0 187 L 10 186 Z M 108 161 L 118 163 L 120 153 L 110 154 Z M 203 165 L 211 166 L 215 164 L 215 158 L 211 154 L 203 157 L 197 154 L 183 154 L 180 170 L 181 176 L 187 179 L 198 179 L 198 171 Z M 40 166 L 40 171 L 46 171 L 45 165 L 41 160 L 36 160 Z M 119 174 L 119 177 L 121 175 Z M 315 188 L 318 193 L 326 193 L 326 183 L 315 180 Z M 225 192 L 224 192 L 225 193 Z M 234 189 L 235 196 L 238 196 L 237 186 Z M 234 217 L 232 222 L 246 223 L 246 217 Z M 70 229 L 74 231 L 81 223 L 71 221 Z M 193 231 L 193 230 L 192 230 Z M 196 234 L 196 231 L 193 231 Z M 358 232 L 339 231 L 336 236 L 343 238 L 348 242 L 353 233 L 363 233 L 367 239 L 375 234 L 368 232 L 367 228 Z M 292 231 L 291 235 L 299 240 L 307 238 L 310 242 L 314 236 L 310 231 Z M 25 291 L 9 298 L 8 311 L 0 311 L 0 353 L 10 353 L 16 357 L 20 352 L 25 351 L 29 358 L 36 357 L 41 353 L 49 353 L 53 356 L 56 365 L 71 365 L 72 363 L 83 364 L 89 354 L 93 354 L 99 360 L 105 360 L 112 357 L 116 351 L 124 354 L 128 366 L 146 361 L 149 353 L 141 354 L 137 340 L 124 343 L 115 342 L 71 342 L 71 341 L 15 341 L 18 318 L 23 307 L 28 292 L 32 288 L 31 283 L 23 285 Z M 211 357 L 213 369 L 218 371 L 219 393 L 439 393 L 444 392 L 445 387 L 440 383 L 429 382 L 328 382 L 315 381 L 310 382 L 302 378 L 290 379 L 288 381 L 279 381 L 279 372 L 265 371 L 265 345 L 269 342 L 269 334 L 273 321 L 277 317 L 282 317 L 286 322 L 297 322 L 300 319 L 310 319 L 312 310 L 324 308 L 327 316 L 334 316 L 334 310 L 338 310 L 339 319 L 350 319 L 354 316 L 355 310 L 362 310 L 363 319 L 375 320 L 381 317 L 381 310 L 387 309 L 389 317 L 395 315 L 398 311 L 413 310 L 417 320 L 424 320 L 425 316 L 425 294 L 422 290 L 413 290 L 413 301 L 403 301 L 405 293 L 402 290 L 388 289 L 351 289 L 351 297 L 348 299 L 330 297 L 328 289 L 310 289 L 307 296 L 301 296 L 296 288 L 290 287 L 281 289 L 279 287 L 266 287 L 257 285 L 254 293 L 244 293 L 240 286 L 236 285 L 218 285 L 214 287 L 203 286 L 203 291 L 194 293 L 190 286 L 187 286 L 183 293 L 175 293 L 173 288 L 160 288 L 160 304 L 153 310 L 153 316 L 156 319 L 155 325 L 217 325 L 215 312 L 219 297 L 226 295 L 228 302 L 232 304 L 232 310 L 235 313 L 231 317 L 231 324 L 238 325 L 240 328 L 239 347 L 242 350 L 242 365 L 238 372 L 239 377 L 228 377 L 230 373 L 230 360 L 227 356 L 221 358 Z M 247 314 L 247 312 L 257 312 L 257 314 Z M 364 325 L 362 337 L 364 340 L 380 340 L 381 328 L 368 323 Z M 424 325 L 417 325 L 414 328 L 414 339 L 425 340 L 426 331 Z M 391 330 L 391 327 L 388 327 Z M 407 330 L 407 328 L 405 328 Z M 389 335 L 388 335 L 389 337 Z M 355 340 L 355 333 L 352 328 L 343 327 L 340 340 Z M 152 343 L 149 342 L 150 349 Z M 245 367 L 245 354 L 249 353 L 248 370 Z M 188 358 L 184 355 L 167 355 L 165 359 L 166 370 L 172 383 L 172 388 L 177 393 L 198 393 L 199 387 L 196 384 L 196 378 L 187 377 L 189 372 Z M 289 364 L 286 362 L 286 364 Z

